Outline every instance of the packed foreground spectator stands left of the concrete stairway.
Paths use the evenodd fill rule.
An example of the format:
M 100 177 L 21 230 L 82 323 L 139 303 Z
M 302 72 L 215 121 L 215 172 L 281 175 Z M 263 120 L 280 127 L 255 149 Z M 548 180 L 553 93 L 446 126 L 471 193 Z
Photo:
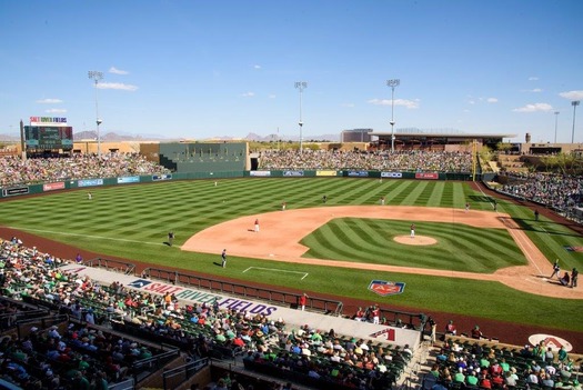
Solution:
M 9 379 L 23 387 L 33 382 L 40 389 L 69 389 L 81 382 L 83 386 L 98 381 L 113 383 L 127 376 L 135 378 L 138 373 L 132 372 L 135 359 L 130 358 L 137 353 L 140 359 L 147 359 L 162 353 L 163 349 L 147 347 L 149 356 L 144 357 L 144 347 L 131 340 L 149 340 L 151 346 L 173 346 L 192 358 L 240 357 L 249 370 L 264 371 L 273 367 L 269 372 L 281 379 L 289 379 L 293 372 L 294 380 L 304 378 L 312 384 L 320 383 L 321 388 L 356 386 L 373 389 L 379 383 L 394 383 L 410 359 L 410 352 L 399 347 L 373 344 L 335 334 L 332 330 L 321 331 L 305 326 L 298 331 L 288 331 L 279 319 L 204 303 L 181 307 L 171 294 L 151 296 L 117 282 L 100 286 L 87 277 L 62 271 L 59 266 L 69 263 L 69 260 L 40 253 L 16 238 L 0 240 L 0 251 L 2 294 L 12 299 L 12 303 L 2 308 L 10 318 L 6 321 L 8 329 L 3 330 L 16 324 L 24 336 L 10 337 L 10 348 L 2 348 L 0 352 L 2 363 L 12 364 L 7 371 L 11 373 Z M 18 310 L 14 310 L 14 302 L 18 302 Z M 47 322 L 46 311 L 38 319 L 18 319 L 16 312 L 31 308 L 47 308 L 49 318 L 57 319 L 56 314 L 60 313 L 63 320 Z M 29 334 L 49 334 L 57 330 L 53 328 L 59 328 L 59 334 L 52 337 L 52 343 L 54 348 L 60 346 L 61 350 L 54 350 L 52 344 L 33 348 L 41 351 L 36 358 L 49 362 L 42 372 L 22 364 L 30 359 L 29 356 L 24 361 L 14 362 L 13 349 L 22 349 Z M 124 336 L 114 339 L 112 334 Z M 101 342 L 103 338 L 108 340 L 105 347 Z M 123 347 L 118 348 L 120 342 Z M 122 354 L 117 353 L 120 348 Z M 91 358 L 94 369 L 80 369 L 77 353 L 83 359 Z M 62 364 L 64 360 L 67 364 Z M 71 371 L 71 361 L 78 366 L 74 372 Z M 118 370 L 113 370 L 112 364 L 118 364 Z M 34 367 L 39 367 L 36 360 Z M 58 387 L 48 383 L 47 372 L 58 378 L 54 380 Z M 373 380 L 378 383 L 374 384 Z

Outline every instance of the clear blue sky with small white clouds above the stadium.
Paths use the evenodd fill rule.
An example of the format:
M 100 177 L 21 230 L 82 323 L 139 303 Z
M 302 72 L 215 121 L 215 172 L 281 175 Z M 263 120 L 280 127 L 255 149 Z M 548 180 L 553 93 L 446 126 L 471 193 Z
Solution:
M 400 79 L 396 131 L 553 142 L 556 120 L 571 142 L 582 26 L 580 0 L 3 0 L 0 133 L 31 116 L 94 130 L 97 70 L 101 133 L 298 137 L 300 106 L 304 139 L 391 131 Z

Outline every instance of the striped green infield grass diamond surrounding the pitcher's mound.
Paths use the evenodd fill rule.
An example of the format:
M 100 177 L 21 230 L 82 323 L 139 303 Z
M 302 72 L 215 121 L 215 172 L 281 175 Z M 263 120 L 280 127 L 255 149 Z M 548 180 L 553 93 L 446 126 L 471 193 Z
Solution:
M 503 229 L 420 222 L 416 224 L 418 234 L 438 240 L 434 246 L 420 247 L 393 240 L 395 236 L 409 234 L 409 222 L 371 221 L 353 218 L 331 220 L 301 241 L 310 248 L 304 257 L 486 273 L 527 263 Z M 372 233 L 371 229 L 374 229 Z

